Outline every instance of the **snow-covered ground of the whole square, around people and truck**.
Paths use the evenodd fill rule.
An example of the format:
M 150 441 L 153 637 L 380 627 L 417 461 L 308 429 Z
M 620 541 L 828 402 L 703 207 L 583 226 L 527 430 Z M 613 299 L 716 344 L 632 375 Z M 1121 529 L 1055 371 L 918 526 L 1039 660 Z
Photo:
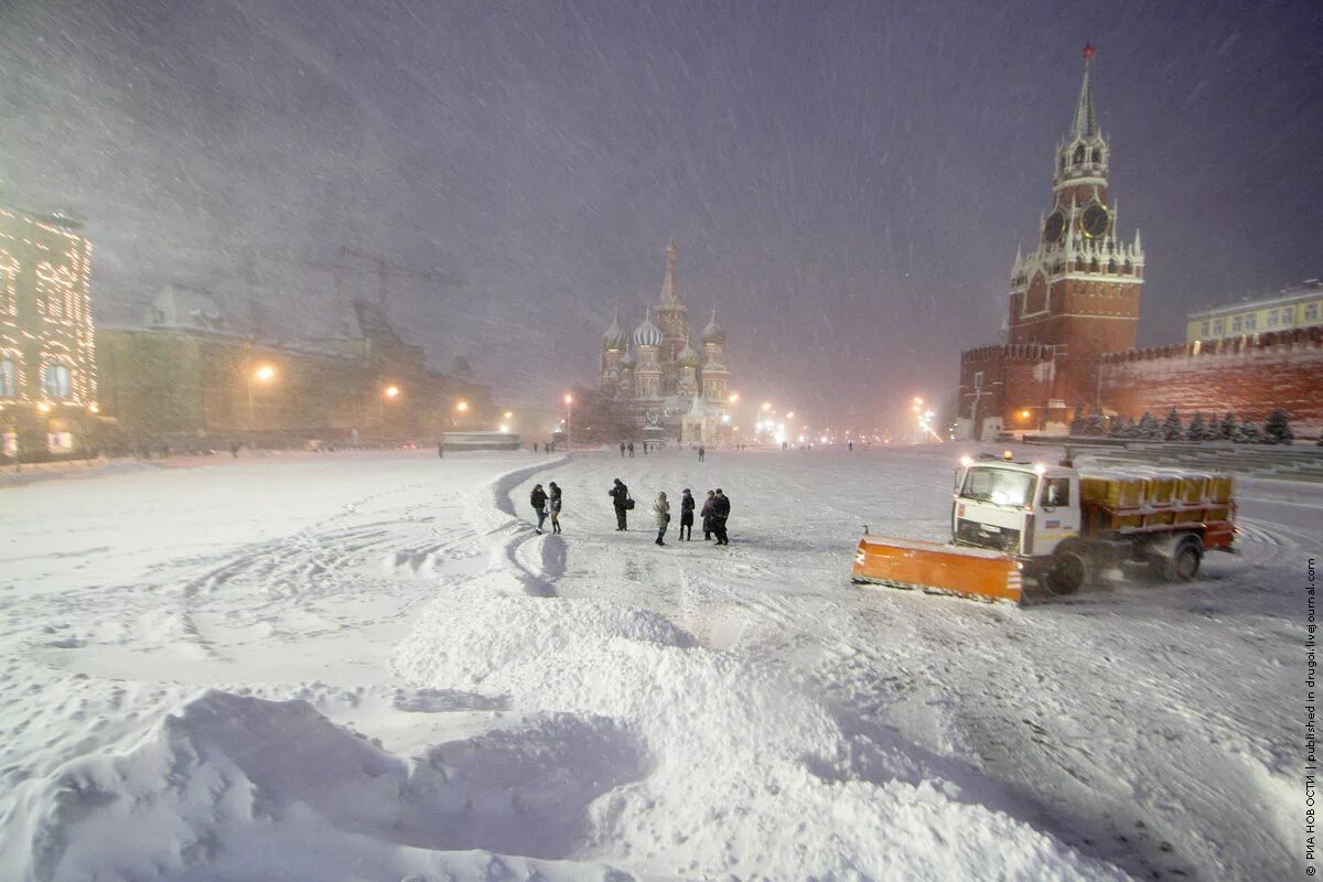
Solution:
M 1242 481 L 1244 553 L 1191 586 L 1113 574 L 1020 608 L 852 586 L 863 524 L 945 536 L 953 459 L 7 481 L 0 878 L 1298 874 L 1323 489 Z M 548 480 L 561 537 L 528 522 Z M 656 491 L 718 485 L 729 547 L 652 543 Z

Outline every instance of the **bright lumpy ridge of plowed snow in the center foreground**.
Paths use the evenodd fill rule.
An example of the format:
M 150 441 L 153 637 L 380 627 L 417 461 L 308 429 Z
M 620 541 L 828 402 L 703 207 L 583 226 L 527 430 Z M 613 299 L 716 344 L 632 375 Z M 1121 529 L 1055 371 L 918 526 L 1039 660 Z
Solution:
M 483 692 L 635 733 L 646 775 L 589 807 L 590 844 L 628 854 L 631 869 L 1125 878 L 1017 820 L 1028 812 L 972 772 L 894 735 L 865 737 L 796 674 L 696 647 L 651 612 L 460 588 L 433 602 L 394 666 L 418 688 Z

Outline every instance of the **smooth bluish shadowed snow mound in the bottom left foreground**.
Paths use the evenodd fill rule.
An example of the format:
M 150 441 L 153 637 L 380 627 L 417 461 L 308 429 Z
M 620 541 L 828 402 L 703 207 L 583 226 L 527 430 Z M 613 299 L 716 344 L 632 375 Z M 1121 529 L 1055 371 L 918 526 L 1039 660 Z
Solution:
M 581 774 L 564 775 L 573 762 Z M 474 849 L 568 854 L 598 792 L 585 782 L 610 787 L 638 768 L 610 721 L 552 718 L 406 763 L 307 702 L 208 692 L 128 754 L 25 785 L 0 819 L 0 878 L 624 879 Z

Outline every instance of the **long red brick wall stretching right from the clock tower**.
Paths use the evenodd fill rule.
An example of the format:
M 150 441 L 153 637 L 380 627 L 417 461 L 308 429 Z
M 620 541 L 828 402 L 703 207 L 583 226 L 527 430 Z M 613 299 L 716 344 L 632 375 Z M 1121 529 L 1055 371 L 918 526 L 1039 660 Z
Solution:
M 1103 356 L 1102 398 L 1122 417 L 1175 407 L 1263 422 L 1285 410 L 1297 434 L 1323 431 L 1323 327 Z

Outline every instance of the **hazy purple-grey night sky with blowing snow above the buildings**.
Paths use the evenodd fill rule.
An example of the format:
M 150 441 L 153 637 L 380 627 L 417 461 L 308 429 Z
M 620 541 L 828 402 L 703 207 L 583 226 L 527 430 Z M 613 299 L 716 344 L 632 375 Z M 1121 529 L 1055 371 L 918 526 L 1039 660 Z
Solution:
M 995 341 L 1085 41 L 1142 344 L 1323 274 L 1318 3 L 0 0 L 0 198 L 89 218 L 102 321 L 179 280 L 325 332 L 269 258 L 347 243 L 462 274 L 392 315 L 516 401 L 593 378 L 673 235 L 737 387 L 881 417 Z

